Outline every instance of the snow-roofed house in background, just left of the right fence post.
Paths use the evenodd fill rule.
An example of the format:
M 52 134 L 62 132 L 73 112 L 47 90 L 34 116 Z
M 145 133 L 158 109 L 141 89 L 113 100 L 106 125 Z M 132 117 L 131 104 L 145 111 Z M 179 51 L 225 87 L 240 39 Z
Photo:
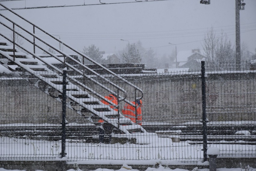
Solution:
M 177 54 L 177 66 L 178 68 L 189 68 L 189 70 L 198 70 L 201 69 L 202 58 L 206 57 L 201 55 L 200 49 L 179 51 Z

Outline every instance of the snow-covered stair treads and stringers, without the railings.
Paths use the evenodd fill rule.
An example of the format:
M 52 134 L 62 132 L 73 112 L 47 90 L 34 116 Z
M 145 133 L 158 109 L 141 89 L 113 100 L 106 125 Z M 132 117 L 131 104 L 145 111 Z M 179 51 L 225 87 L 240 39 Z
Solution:
M 62 102 L 62 71 L 59 68 L 54 67 L 52 64 L 44 61 L 44 58 L 40 58 L 37 55 L 35 55 L 37 58 L 34 59 L 32 55 L 26 55 L 17 48 L 15 49 L 14 60 L 13 46 L 3 40 L 0 40 L 0 44 L 0 63 L 2 65 L 13 70 L 10 64 L 16 64 L 23 71 L 27 72 L 25 77 L 29 82 Z M 49 69 L 47 66 L 52 67 L 54 70 Z M 15 70 L 13 71 L 15 72 Z M 87 118 L 88 120 L 94 123 L 97 119 L 103 119 L 120 130 L 120 132 L 117 131 L 120 134 L 130 135 L 135 132 L 146 132 L 140 125 L 134 124 L 130 119 L 125 118 L 108 105 L 103 104 L 99 99 L 92 97 L 87 91 L 83 91 L 80 88 L 81 86 L 72 84 L 72 82 L 74 82 L 74 78 L 68 75 L 66 95 L 69 101 L 67 102 L 67 107 L 74 110 L 73 104 L 79 104 L 81 110 L 75 110 L 79 115 L 83 116 L 83 111 L 91 112 L 93 116 Z M 78 84 L 83 85 L 81 82 L 78 82 Z M 86 86 L 84 85 L 84 87 Z M 56 91 L 59 91 L 59 93 Z M 99 127 L 102 128 L 102 126 Z

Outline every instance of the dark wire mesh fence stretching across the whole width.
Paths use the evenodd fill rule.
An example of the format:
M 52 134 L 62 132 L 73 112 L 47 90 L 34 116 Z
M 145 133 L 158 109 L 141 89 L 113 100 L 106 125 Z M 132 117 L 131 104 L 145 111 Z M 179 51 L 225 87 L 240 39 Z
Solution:
M 206 64 L 207 140 L 208 146 L 221 149 L 221 155 L 255 155 L 255 76 L 250 69 L 245 64 L 240 65 L 238 71 L 236 64 Z M 126 99 L 131 102 L 141 95 L 134 86 L 112 76 L 105 75 L 108 80 L 125 89 L 126 95 L 100 77 L 93 76 L 96 83 L 90 78 L 69 77 L 72 77 L 68 79 L 70 84 L 99 100 L 99 96 L 110 94 L 106 88 L 118 92 L 122 97 L 127 95 Z M 48 85 L 43 83 L 46 80 L 29 77 L 34 78 L 32 81 L 27 78 L 6 74 L 0 77 L 0 158 L 59 157 L 61 90 L 53 91 L 51 88 L 49 91 Z M 200 71 L 127 75 L 125 79 L 143 90 L 142 127 L 147 134 L 123 136 L 118 134 L 118 128 L 111 133 L 102 133 L 97 123 L 88 120 L 92 113 L 88 110 L 79 113 L 82 105 L 67 98 L 67 104 L 72 104 L 66 108 L 67 158 L 70 161 L 202 159 Z M 71 89 L 72 86 L 67 87 L 67 91 Z M 89 90 L 96 91 L 98 95 Z M 119 105 L 122 114 L 126 102 L 120 101 Z M 99 141 L 102 135 L 103 143 Z M 141 143 L 136 143 L 136 139 L 132 138 L 139 139 Z

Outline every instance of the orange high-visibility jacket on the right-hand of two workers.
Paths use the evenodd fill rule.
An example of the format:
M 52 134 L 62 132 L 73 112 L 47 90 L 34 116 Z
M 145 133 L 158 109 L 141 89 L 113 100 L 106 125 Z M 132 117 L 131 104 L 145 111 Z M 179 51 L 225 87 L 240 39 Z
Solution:
M 134 101 L 132 103 L 135 104 Z M 142 125 L 142 110 L 141 110 L 142 106 L 141 105 L 142 105 L 142 100 L 140 100 L 140 105 L 136 103 L 137 122 L 136 122 L 135 107 L 131 106 L 130 104 L 125 104 L 124 109 L 122 110 L 122 113 L 125 117 L 130 118 L 132 122 Z

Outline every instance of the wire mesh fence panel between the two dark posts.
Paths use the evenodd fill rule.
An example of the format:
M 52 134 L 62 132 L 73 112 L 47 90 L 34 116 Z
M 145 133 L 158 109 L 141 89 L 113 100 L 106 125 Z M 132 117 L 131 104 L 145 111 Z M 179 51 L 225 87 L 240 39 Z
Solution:
M 126 75 L 125 79 L 141 88 L 144 92 L 142 99 L 142 127 L 148 134 L 136 136 L 142 144 L 136 144 L 130 137 L 105 135 L 105 143 L 99 143 L 100 131 L 91 123 L 76 113 L 67 113 L 68 130 L 73 130 L 70 136 L 67 133 L 68 158 L 77 160 L 184 160 L 191 161 L 203 157 L 202 145 L 190 145 L 179 141 L 179 134 L 190 135 L 201 128 L 202 118 L 201 80 L 200 72 L 176 72 L 153 75 Z M 106 76 L 107 77 L 107 76 Z M 135 91 L 129 85 L 115 78 L 112 82 L 127 91 L 127 99 L 134 101 Z M 99 80 L 105 86 L 107 82 Z M 92 89 L 105 95 L 97 85 L 87 84 Z M 95 87 L 94 87 L 95 86 Z M 119 111 L 126 104 L 121 101 Z M 89 117 L 90 113 L 84 113 Z M 73 125 L 72 125 L 73 124 Z M 97 124 L 97 123 L 96 123 Z M 191 125 L 198 124 L 191 130 Z M 155 134 L 157 133 L 157 134 Z M 72 137 L 73 136 L 73 137 Z M 119 137 L 119 139 L 118 139 Z M 120 137 L 123 137 L 120 140 Z

